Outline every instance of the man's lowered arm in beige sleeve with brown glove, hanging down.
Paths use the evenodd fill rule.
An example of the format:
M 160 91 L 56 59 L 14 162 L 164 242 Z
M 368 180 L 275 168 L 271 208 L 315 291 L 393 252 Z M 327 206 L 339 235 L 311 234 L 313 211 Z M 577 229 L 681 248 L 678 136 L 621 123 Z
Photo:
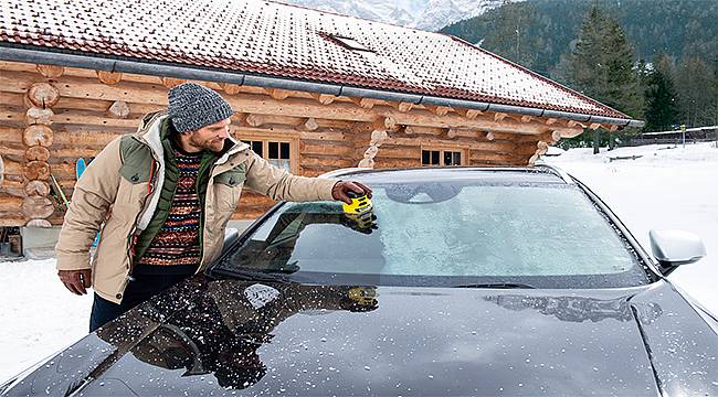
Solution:
M 122 167 L 120 138 L 109 142 L 82 174 L 60 230 L 57 275 L 67 289 L 84 294 L 89 287 L 89 247 L 115 202 Z

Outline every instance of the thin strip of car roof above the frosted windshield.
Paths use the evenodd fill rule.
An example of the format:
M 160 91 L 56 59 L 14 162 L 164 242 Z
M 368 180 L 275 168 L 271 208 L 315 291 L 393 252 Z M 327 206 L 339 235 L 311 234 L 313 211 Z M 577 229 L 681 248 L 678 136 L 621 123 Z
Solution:
M 356 178 L 374 183 L 411 183 L 446 180 L 493 180 L 547 184 L 573 184 L 573 179 L 559 168 L 535 167 L 432 167 L 410 169 L 350 168 L 335 170 L 320 178 Z

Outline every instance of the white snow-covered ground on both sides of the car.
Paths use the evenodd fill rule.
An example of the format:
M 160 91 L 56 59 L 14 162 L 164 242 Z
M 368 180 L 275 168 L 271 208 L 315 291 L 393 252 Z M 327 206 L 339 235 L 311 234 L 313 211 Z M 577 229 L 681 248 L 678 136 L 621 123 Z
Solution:
M 646 247 L 652 228 L 698 234 L 708 251 L 671 279 L 718 313 L 718 149 L 710 143 L 621 148 L 601 154 L 572 149 L 547 162 L 587 183 Z M 610 157 L 642 155 L 610 162 Z M 87 333 L 91 296 L 76 297 L 55 276 L 54 260 L 0 262 L 0 383 Z M 712 290 L 711 290 L 712 289 Z

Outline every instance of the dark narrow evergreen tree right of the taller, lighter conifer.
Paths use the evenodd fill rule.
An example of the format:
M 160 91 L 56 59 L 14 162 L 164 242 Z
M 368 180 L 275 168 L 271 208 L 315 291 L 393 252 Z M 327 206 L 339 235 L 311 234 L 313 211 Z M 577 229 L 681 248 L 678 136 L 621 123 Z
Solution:
M 679 124 L 678 94 L 673 83 L 673 63 L 667 55 L 654 62 L 645 92 L 646 131 L 665 131 Z

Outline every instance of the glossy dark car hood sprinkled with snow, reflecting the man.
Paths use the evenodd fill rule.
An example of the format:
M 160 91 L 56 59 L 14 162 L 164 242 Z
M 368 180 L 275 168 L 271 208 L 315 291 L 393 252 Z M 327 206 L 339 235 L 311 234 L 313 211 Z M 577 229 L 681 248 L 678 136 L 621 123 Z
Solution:
M 716 395 L 716 334 L 661 281 L 617 290 L 202 277 L 6 395 Z

